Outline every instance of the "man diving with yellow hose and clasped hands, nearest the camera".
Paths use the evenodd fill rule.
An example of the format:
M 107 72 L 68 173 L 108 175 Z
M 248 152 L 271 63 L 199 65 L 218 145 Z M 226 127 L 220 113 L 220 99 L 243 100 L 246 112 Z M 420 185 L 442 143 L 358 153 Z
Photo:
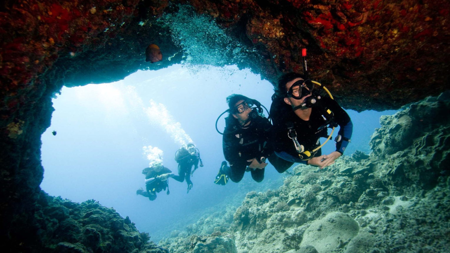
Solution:
M 320 85 L 297 73 L 288 73 L 279 79 L 270 107 L 274 125 L 271 143 L 280 158 L 322 169 L 333 164 L 344 153 L 350 142 L 353 124 L 332 97 L 320 96 L 320 91 L 314 89 L 314 83 Z M 336 151 L 322 155 L 320 137 L 331 138 L 327 127 L 338 125 Z

